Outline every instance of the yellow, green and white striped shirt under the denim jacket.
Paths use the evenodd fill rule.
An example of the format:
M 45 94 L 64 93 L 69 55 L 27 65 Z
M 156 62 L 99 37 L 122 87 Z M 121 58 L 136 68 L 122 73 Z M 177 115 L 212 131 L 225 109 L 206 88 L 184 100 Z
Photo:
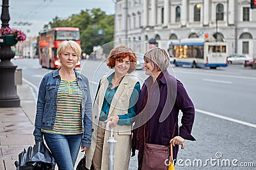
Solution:
M 61 79 L 57 96 L 57 113 L 54 128 L 42 132 L 52 134 L 81 134 L 81 102 L 82 92 L 78 87 L 77 79 L 67 81 Z

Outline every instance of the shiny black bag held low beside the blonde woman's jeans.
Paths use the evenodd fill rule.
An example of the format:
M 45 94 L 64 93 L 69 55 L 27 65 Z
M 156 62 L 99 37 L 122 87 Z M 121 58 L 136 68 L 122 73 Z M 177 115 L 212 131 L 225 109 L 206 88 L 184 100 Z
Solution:
M 19 162 L 15 161 L 15 166 L 17 170 L 53 170 L 55 161 L 44 142 L 38 142 L 33 147 L 29 146 L 28 152 L 24 149 L 19 154 Z

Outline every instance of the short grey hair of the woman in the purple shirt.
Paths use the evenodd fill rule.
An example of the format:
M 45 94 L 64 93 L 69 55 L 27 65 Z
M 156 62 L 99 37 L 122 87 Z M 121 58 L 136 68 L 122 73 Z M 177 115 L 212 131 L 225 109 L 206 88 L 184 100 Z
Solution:
M 170 57 L 163 48 L 156 47 L 148 50 L 144 55 L 145 58 L 152 62 L 154 69 L 159 67 L 161 71 L 166 71 L 168 66 L 170 66 Z

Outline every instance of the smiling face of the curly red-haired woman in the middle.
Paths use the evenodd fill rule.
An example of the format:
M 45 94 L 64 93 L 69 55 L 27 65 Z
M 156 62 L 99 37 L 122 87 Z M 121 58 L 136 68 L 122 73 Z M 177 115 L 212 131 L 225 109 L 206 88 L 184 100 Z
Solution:
M 125 75 L 125 74 L 127 74 L 130 66 L 131 66 L 131 61 L 130 61 L 129 56 L 120 58 L 120 59 L 116 59 L 115 72 L 120 75 Z

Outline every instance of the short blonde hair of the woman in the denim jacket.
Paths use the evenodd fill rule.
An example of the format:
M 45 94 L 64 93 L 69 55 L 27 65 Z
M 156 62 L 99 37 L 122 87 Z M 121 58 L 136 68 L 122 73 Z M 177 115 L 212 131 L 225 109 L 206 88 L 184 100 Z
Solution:
M 65 40 L 65 41 L 62 41 L 60 43 L 60 46 L 58 47 L 58 50 L 57 50 L 58 57 L 68 47 L 70 47 L 76 53 L 78 58 L 81 56 L 82 50 L 81 50 L 81 47 L 79 46 L 79 44 L 76 41 L 72 41 L 72 40 L 67 41 L 67 40 Z

